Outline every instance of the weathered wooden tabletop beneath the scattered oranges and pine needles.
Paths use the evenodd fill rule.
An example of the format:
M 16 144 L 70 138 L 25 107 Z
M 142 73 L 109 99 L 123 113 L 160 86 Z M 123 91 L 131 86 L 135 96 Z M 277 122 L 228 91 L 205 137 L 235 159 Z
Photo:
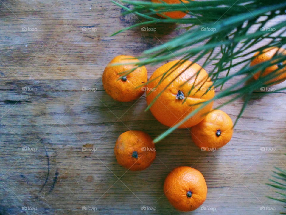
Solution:
M 156 145 L 156 159 L 146 170 L 117 164 L 114 144 L 121 133 L 143 130 L 155 138 L 167 127 L 144 112 L 145 96 L 128 103 L 111 99 L 102 72 L 114 56 L 138 56 L 182 31 L 157 24 L 156 32 L 135 28 L 109 37 L 138 22 L 120 12 L 109 0 L 0 1 L 0 214 L 283 211 L 281 202 L 265 197 L 279 197 L 265 183 L 274 165 L 286 168 L 285 92 L 257 92 L 231 141 L 215 152 L 200 151 L 188 129 L 181 129 Z M 156 67 L 147 66 L 149 77 Z M 242 104 L 239 99 L 221 110 L 234 121 Z M 97 150 L 82 151 L 85 146 Z M 164 196 L 165 177 L 180 165 L 203 173 L 205 208 L 181 213 Z

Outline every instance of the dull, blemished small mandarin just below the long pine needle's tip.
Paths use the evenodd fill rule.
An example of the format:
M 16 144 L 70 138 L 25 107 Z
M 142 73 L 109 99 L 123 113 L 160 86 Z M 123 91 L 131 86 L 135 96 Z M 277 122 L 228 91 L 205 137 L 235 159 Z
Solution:
M 155 159 L 156 148 L 147 133 L 132 130 L 120 134 L 114 153 L 117 162 L 126 169 L 144 170 Z

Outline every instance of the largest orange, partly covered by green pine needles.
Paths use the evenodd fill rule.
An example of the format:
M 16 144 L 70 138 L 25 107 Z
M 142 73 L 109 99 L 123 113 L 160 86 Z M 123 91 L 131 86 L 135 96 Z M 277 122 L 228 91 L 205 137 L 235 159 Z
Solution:
M 215 96 L 215 90 L 213 89 L 213 87 L 211 88 L 212 82 L 208 74 L 206 73 L 206 70 L 200 67 L 200 65 L 192 63 L 191 61 L 186 61 L 178 68 L 175 67 L 175 70 L 170 70 L 167 75 L 164 76 L 166 77 L 166 79 L 164 79 L 157 86 L 161 79 L 161 75 L 167 72 L 177 62 L 178 60 L 171 61 L 159 67 L 150 77 L 150 81 L 153 79 L 154 81 L 147 84 L 146 91 L 146 100 L 148 105 L 152 102 L 154 98 L 158 98 L 150 108 L 151 113 L 159 122 L 169 127 L 172 127 L 173 125 L 177 124 L 178 122 L 183 120 L 185 116 L 187 116 L 193 110 L 198 108 L 198 102 L 207 101 Z M 189 68 L 187 69 L 187 67 Z M 183 71 L 184 73 L 179 75 Z M 196 73 L 198 73 L 197 78 Z M 179 77 L 176 78 L 178 75 Z M 169 85 L 173 79 L 175 79 L 175 81 L 167 87 L 167 85 Z M 186 82 L 188 79 L 190 80 L 185 85 L 183 85 L 184 82 Z M 192 89 L 193 84 L 194 88 Z M 200 88 L 201 85 L 202 87 Z M 158 96 L 158 94 L 165 87 L 167 87 L 166 90 L 160 96 Z M 200 90 L 198 90 L 199 88 Z M 186 101 L 183 103 L 184 98 L 188 95 L 190 89 L 192 89 L 192 91 L 187 97 Z M 149 92 L 151 93 L 148 94 Z M 212 109 L 212 105 L 213 102 L 206 105 L 204 108 L 198 111 L 198 113 L 196 113 L 186 122 L 184 122 L 184 124 L 179 126 L 179 128 L 188 128 L 198 124 L 205 117 L 203 115 L 205 113 L 208 113 Z

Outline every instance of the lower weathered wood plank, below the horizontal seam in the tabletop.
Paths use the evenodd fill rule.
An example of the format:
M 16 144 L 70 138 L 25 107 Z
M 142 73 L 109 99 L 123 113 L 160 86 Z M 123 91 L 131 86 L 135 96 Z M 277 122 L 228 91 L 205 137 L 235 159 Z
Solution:
M 83 81 L 86 85 L 90 84 L 90 81 Z M 24 85 L 28 86 L 31 82 L 24 81 Z M 27 193 L 19 191 L 29 191 L 29 195 L 34 196 L 29 201 L 31 205 L 40 208 L 47 204 L 59 211 L 70 209 L 70 213 L 79 214 L 82 212 L 77 211 L 77 207 L 84 205 L 97 207 L 103 214 L 112 214 L 112 210 L 126 214 L 131 208 L 140 213 L 141 206 L 148 205 L 156 207 L 156 213 L 172 214 L 175 210 L 164 196 L 156 200 L 162 195 L 162 184 L 169 169 L 178 165 L 193 165 L 202 171 L 209 186 L 205 205 L 215 207 L 217 211 L 256 213 L 266 202 L 271 204 L 264 195 L 272 195 L 273 191 L 261 187 L 265 186 L 263 183 L 268 178 L 265 175 L 270 175 L 273 164 L 285 161 L 281 151 L 285 150 L 286 107 L 280 103 L 285 101 L 284 93 L 253 101 L 235 128 L 233 139 L 224 148 L 213 153 L 200 151 L 192 144 L 187 129 L 176 130 L 157 144 L 157 159 L 150 168 L 140 173 L 125 173 L 116 163 L 113 151 L 119 134 L 128 129 L 144 130 L 156 137 L 166 129 L 150 112 L 144 112 L 144 97 L 137 102 L 121 103 L 112 100 L 100 88 L 95 92 L 74 90 L 68 80 L 43 81 L 38 85 L 37 91 L 27 92 L 21 90 L 23 83 L 15 83 L 13 90 L 7 82 L 1 82 L 1 88 L 6 86 L 6 90 L 1 90 L 0 103 L 1 147 L 5 147 L 1 157 L 5 165 L 1 169 L 8 171 L 11 166 L 7 164 L 18 161 L 12 171 L 9 170 L 1 179 L 9 187 L 19 183 L 23 188 L 15 189 L 17 195 L 25 196 Z M 81 85 L 81 82 L 78 83 L 78 86 Z M 11 98 L 28 102 L 8 102 Z M 268 108 L 270 100 L 273 108 Z M 223 110 L 235 120 L 242 102 L 234 102 Z M 96 147 L 97 151 L 82 151 L 86 144 Z M 38 150 L 22 151 L 24 146 Z M 275 147 L 276 150 L 261 151 L 260 147 Z M 44 186 L 48 166 L 50 172 Z M 56 173 L 60 180 L 52 186 Z M 138 199 L 121 181 L 117 181 L 116 176 L 122 176 L 120 180 Z M 50 188 L 52 191 L 49 191 Z M 237 192 L 243 197 L 237 196 Z M 15 197 L 13 193 L 10 195 Z M 37 202 L 42 196 L 43 199 Z M 218 196 L 221 197 L 216 201 Z M 249 199 L 253 203 L 240 208 L 247 205 Z M 225 206 L 233 204 L 237 204 L 237 208 Z M 59 211 L 55 210 L 55 214 Z

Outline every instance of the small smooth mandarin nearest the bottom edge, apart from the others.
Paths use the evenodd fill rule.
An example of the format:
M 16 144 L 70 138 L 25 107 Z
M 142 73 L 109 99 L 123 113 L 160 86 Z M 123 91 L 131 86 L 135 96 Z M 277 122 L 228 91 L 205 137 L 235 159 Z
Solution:
M 200 171 L 180 166 L 166 177 L 164 193 L 171 205 L 179 211 L 193 211 L 206 200 L 206 181 Z

